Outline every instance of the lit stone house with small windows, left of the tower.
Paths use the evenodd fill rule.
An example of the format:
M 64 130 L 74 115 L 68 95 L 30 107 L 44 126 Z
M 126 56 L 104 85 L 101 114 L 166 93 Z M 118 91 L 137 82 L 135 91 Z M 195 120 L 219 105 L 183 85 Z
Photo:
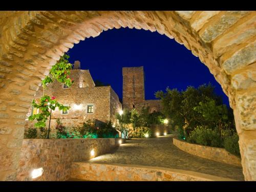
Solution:
M 95 87 L 89 70 L 80 70 L 80 62 L 75 61 L 70 78 L 74 79 L 71 87 L 58 81 L 53 82 L 45 90 L 45 94 L 55 96 L 59 103 L 68 105 L 68 111 L 56 108 L 51 115 L 51 129 L 54 130 L 56 119 L 60 118 L 67 127 L 82 125 L 89 119 L 96 122 L 116 122 L 115 114 L 122 106 L 111 86 Z M 36 92 L 35 99 L 42 96 L 42 87 Z M 38 113 L 38 109 L 30 108 L 27 116 Z M 28 121 L 27 127 L 33 127 L 34 122 Z M 47 122 L 48 125 L 48 122 Z

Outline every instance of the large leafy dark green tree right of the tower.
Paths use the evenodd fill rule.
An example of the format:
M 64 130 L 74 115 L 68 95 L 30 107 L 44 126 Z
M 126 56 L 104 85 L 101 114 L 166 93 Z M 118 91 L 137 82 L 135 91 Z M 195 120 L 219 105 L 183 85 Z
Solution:
M 226 108 L 222 106 L 221 97 L 214 93 L 214 87 L 210 83 L 203 84 L 197 89 L 190 86 L 181 92 L 167 88 L 166 92 L 158 91 L 155 95 L 156 98 L 161 99 L 163 114 L 170 119 L 174 127 L 183 129 L 185 137 L 198 125 L 215 125 L 212 124 L 214 123 L 212 119 L 216 118 L 216 115 L 210 119 L 212 114 L 207 114 L 210 109 L 211 113 L 222 113 L 223 115 L 219 118 L 222 121 L 226 119 L 224 115 Z M 208 107 L 210 107 L 208 111 L 203 109 Z

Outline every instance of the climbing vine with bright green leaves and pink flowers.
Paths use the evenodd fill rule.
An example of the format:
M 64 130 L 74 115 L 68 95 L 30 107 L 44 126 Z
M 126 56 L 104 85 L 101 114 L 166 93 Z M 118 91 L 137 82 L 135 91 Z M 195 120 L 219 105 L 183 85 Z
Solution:
M 37 122 L 34 124 L 35 127 L 40 129 L 46 126 L 46 121 L 51 115 L 51 110 L 55 110 L 58 108 L 59 110 L 68 110 L 70 106 L 65 106 L 60 104 L 57 101 L 56 97 L 50 97 L 45 95 L 45 89 L 49 86 L 49 83 L 58 81 L 61 83 L 65 83 L 68 87 L 70 87 L 74 80 L 69 77 L 70 70 L 72 69 L 71 63 L 69 63 L 69 55 L 64 54 L 60 57 L 59 61 L 52 67 L 50 73 L 44 80 L 42 80 L 42 88 L 44 90 L 42 97 L 40 98 L 39 102 L 37 103 L 35 99 L 32 101 L 32 106 L 35 109 L 39 109 L 38 114 L 32 114 L 29 116 L 29 120 L 33 121 L 36 120 Z

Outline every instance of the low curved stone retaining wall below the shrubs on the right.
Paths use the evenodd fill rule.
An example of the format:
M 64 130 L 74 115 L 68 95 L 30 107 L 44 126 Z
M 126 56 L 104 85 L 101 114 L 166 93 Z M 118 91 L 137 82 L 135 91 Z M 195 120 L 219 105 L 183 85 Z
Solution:
M 224 148 L 192 144 L 173 138 L 174 145 L 189 154 L 223 163 L 241 165 L 241 159 L 227 152 Z

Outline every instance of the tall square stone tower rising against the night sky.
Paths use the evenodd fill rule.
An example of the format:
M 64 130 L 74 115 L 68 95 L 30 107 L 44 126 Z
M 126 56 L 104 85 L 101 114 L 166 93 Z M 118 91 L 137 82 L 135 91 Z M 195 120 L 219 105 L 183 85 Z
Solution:
M 139 109 L 144 104 L 144 71 L 142 67 L 124 67 L 123 109 Z

